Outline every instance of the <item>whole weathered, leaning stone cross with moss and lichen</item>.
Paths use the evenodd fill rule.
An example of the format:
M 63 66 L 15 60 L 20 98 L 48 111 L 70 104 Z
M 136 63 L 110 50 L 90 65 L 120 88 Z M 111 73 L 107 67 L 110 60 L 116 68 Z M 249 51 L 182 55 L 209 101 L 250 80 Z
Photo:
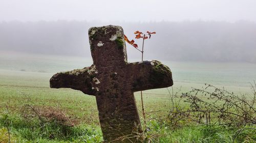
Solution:
M 158 61 L 128 63 L 120 26 L 91 27 L 89 40 L 93 65 L 54 74 L 50 87 L 95 96 L 105 141 L 142 132 L 134 92 L 172 86 L 172 72 Z

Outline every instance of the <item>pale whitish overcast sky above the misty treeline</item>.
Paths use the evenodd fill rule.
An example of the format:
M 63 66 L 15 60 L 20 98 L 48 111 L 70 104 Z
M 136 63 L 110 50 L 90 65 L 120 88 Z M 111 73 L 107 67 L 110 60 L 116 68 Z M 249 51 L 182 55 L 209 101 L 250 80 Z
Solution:
M 0 21 L 184 21 L 250 20 L 256 0 L 0 0 Z

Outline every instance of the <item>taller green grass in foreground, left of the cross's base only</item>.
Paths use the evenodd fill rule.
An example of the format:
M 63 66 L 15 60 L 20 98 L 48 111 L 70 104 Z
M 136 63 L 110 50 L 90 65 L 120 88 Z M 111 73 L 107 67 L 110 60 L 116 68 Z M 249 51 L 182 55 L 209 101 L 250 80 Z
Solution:
M 7 132 L 6 125 L 3 125 L 3 119 L 3 116 L 0 117 L 2 132 Z M 12 134 L 11 138 L 13 140 L 20 139 L 23 142 L 100 142 L 103 140 L 98 126 L 80 124 L 75 127 L 68 127 L 55 121 L 45 122 L 44 125 L 41 125 L 36 118 L 27 120 L 17 114 L 9 115 L 8 122 Z

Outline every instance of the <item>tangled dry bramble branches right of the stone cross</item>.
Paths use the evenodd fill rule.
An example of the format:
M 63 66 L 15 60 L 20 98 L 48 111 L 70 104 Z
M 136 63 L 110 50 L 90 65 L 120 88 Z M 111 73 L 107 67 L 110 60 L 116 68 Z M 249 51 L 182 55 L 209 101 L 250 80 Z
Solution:
M 171 96 L 174 104 L 167 120 L 173 126 L 181 121 L 197 124 L 245 126 L 256 125 L 256 83 L 251 84 L 252 94 L 237 95 L 224 88 L 205 84 L 204 89 L 193 89 L 181 96 Z M 177 102 L 178 101 L 178 102 Z M 188 105 L 183 107 L 179 103 Z

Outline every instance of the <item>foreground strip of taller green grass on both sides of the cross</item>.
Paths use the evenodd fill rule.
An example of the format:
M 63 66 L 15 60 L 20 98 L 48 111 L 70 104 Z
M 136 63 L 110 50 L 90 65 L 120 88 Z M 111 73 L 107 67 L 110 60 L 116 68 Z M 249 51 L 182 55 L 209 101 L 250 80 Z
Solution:
M 81 124 L 76 127 L 58 126 L 52 122 L 38 128 L 40 125 L 36 120 L 27 123 L 20 117 L 11 117 L 12 140 L 22 142 L 100 142 L 103 140 L 100 128 Z M 236 128 L 223 128 L 222 126 L 196 126 L 190 125 L 181 129 L 172 130 L 167 125 L 156 121 L 148 121 L 151 128 L 145 136 L 153 142 L 232 142 Z M 7 139 L 7 130 L 5 132 Z M 53 139 L 54 137 L 54 139 Z M 256 139 L 255 131 L 241 133 L 234 142 L 253 142 Z M 0 140 L 1 141 L 1 140 Z

